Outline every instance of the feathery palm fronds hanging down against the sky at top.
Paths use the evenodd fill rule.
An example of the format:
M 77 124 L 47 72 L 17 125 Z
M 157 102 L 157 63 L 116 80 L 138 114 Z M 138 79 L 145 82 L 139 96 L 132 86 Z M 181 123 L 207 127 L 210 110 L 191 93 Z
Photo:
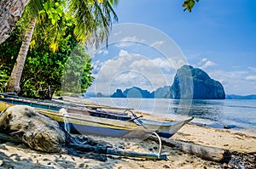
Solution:
M 73 11 L 76 20 L 74 34 L 79 41 L 86 40 L 86 44 L 98 45 L 108 40 L 109 29 L 113 21 L 117 21 L 117 14 L 113 5 L 117 0 L 69 0 L 69 11 Z

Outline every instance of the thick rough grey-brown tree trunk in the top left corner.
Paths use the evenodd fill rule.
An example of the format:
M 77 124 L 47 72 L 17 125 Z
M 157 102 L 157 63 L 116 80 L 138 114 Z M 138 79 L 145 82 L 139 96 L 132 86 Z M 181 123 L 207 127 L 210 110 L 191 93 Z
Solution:
M 29 0 L 0 1 L 0 44 L 9 37 L 28 2 Z

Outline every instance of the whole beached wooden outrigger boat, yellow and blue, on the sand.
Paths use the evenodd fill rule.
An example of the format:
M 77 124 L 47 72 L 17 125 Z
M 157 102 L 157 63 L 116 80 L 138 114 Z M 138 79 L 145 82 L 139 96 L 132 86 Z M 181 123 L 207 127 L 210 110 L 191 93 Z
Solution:
M 61 107 L 60 104 L 42 103 L 35 100 L 26 99 L 26 101 L 10 98 L 0 98 L 0 110 L 5 110 L 14 104 L 26 104 L 36 107 L 42 114 L 49 116 L 51 119 L 58 121 L 61 127 L 68 132 L 81 134 L 95 134 L 110 137 L 129 137 L 143 138 L 148 134 L 157 132 L 160 137 L 170 138 L 183 125 L 193 119 L 186 121 L 149 121 L 139 119 L 137 115 L 119 115 L 113 112 L 101 112 L 89 110 L 80 106 L 78 109 L 71 108 L 70 105 Z M 37 106 L 35 106 L 37 105 Z M 46 108 L 48 106 L 48 108 Z M 69 110 L 80 110 L 79 113 L 69 112 Z M 82 113 L 81 113 L 82 112 Z

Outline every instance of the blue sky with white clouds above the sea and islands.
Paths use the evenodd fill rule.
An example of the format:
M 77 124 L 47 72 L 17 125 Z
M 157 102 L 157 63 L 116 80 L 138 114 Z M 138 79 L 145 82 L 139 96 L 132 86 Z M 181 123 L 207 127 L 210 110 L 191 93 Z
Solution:
M 142 24 L 161 31 L 172 39 L 177 45 L 177 50 L 182 51 L 180 56 L 185 57 L 187 64 L 205 70 L 213 79 L 222 82 L 226 93 L 256 93 L 256 1 L 201 0 L 195 4 L 192 13 L 183 12 L 182 3 L 183 0 L 119 0 L 115 7 L 119 16 L 117 25 Z M 168 69 L 169 66 L 165 65 L 166 61 L 162 54 L 143 45 L 147 35 L 139 39 L 137 34 L 140 31 L 132 28 L 129 31 L 134 31 L 135 35 L 130 35 L 126 39 L 130 38 L 141 44 L 110 44 L 108 50 L 99 50 L 93 58 L 94 76 L 95 83 L 100 86 L 102 82 L 102 87 L 96 87 L 97 84 L 94 84 L 89 92 L 112 93 L 116 87 L 125 89 L 131 86 L 143 87 L 150 91 L 155 87 L 172 84 L 176 69 Z M 162 45 L 165 41 L 156 39 L 155 42 Z M 133 57 L 134 60 L 125 62 L 125 58 L 122 59 L 121 56 L 125 56 L 126 59 L 131 57 L 131 60 Z M 124 63 L 119 64 L 122 60 Z M 144 63 L 140 65 L 140 70 L 118 70 L 121 67 L 135 65 L 135 60 L 137 65 L 138 60 Z M 155 65 L 149 64 L 149 67 L 152 66 L 149 70 L 146 67 L 149 63 L 147 60 L 150 63 L 157 63 L 160 74 L 165 75 L 165 82 L 160 82 L 161 76 L 148 77 L 151 76 L 149 71 L 154 69 Z M 113 70 L 108 64 L 114 65 Z M 145 71 L 147 74 L 142 73 L 145 69 L 148 69 Z M 106 77 L 104 81 L 99 79 L 99 72 L 102 71 Z M 117 76 L 117 71 L 123 73 Z M 106 72 L 113 75 L 108 76 Z M 130 80 L 125 81 L 125 78 Z M 103 84 L 106 84 L 106 81 L 110 82 L 109 87 L 104 88 Z

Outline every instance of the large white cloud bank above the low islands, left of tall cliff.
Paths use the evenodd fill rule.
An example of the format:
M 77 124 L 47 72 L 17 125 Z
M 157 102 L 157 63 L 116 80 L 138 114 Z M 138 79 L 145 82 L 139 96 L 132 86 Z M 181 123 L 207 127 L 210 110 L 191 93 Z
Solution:
M 96 81 L 90 92 L 113 93 L 117 88 L 141 87 L 149 91 L 172 85 L 175 74 L 168 61 L 148 59 L 140 54 L 129 54 L 121 49 L 119 57 L 96 62 Z M 92 91 L 95 90 L 95 91 Z

